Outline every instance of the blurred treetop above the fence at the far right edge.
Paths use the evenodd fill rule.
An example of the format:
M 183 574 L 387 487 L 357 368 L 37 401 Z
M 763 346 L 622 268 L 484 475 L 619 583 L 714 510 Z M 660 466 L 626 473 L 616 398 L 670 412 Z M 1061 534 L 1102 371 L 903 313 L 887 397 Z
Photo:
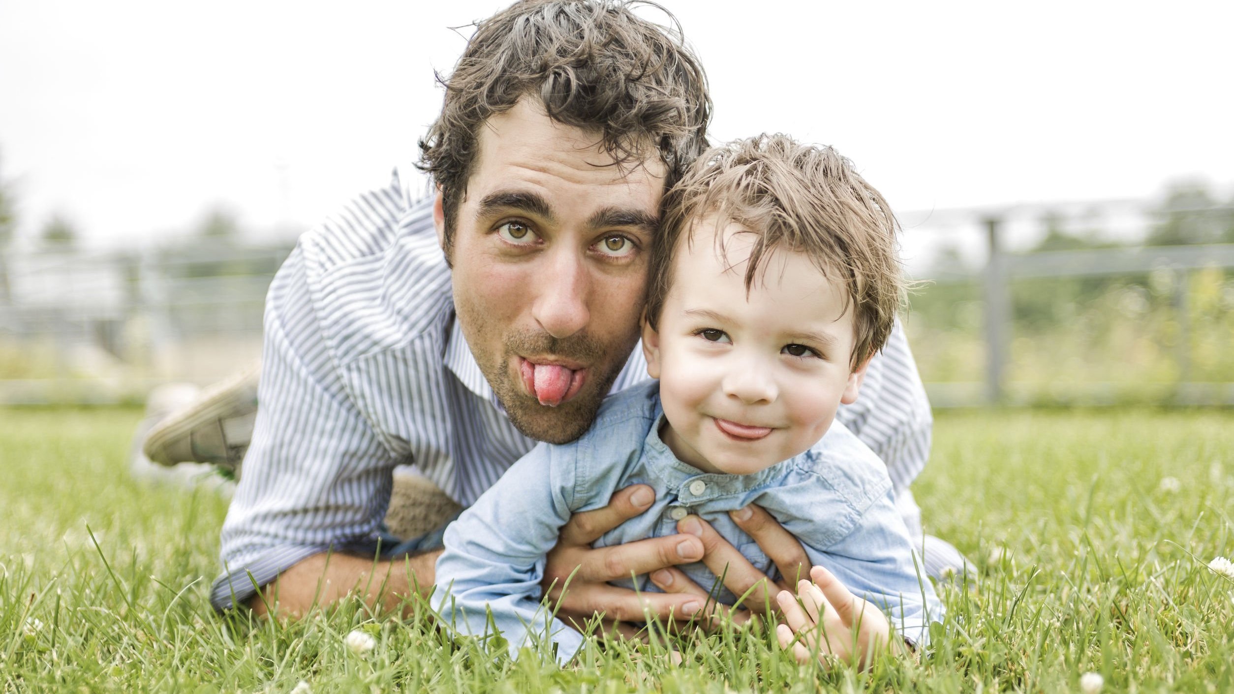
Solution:
M 1157 222 L 1148 246 L 1234 242 L 1234 204 L 1222 205 L 1201 180 L 1170 184 L 1165 201 L 1153 214 Z

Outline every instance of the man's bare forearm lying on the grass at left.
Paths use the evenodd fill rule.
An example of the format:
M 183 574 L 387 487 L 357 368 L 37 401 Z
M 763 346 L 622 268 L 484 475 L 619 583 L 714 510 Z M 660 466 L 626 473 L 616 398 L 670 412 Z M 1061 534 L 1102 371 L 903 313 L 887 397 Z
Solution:
M 391 561 L 352 554 L 313 554 L 279 574 L 249 600 L 258 615 L 268 609 L 279 616 L 300 617 L 315 605 L 337 603 L 347 595 L 363 595 L 365 604 L 390 611 L 411 610 L 407 598 L 420 592 L 427 598 L 433 588 L 433 568 L 441 550 Z

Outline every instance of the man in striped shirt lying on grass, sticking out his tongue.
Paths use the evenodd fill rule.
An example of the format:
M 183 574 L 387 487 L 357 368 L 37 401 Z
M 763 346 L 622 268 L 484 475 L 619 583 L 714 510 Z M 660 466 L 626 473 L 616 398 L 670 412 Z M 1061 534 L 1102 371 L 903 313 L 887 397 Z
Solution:
M 262 405 L 212 604 L 302 614 L 353 590 L 389 608 L 427 592 L 438 552 L 378 545 L 396 467 L 466 506 L 536 441 L 579 437 L 606 394 L 645 378 L 632 349 L 647 252 L 660 198 L 706 147 L 710 115 L 680 32 L 624 2 L 532 0 L 481 22 L 421 142 L 436 196 L 417 203 L 396 174 L 305 235 L 270 286 Z M 868 393 L 840 419 L 916 509 L 907 484 L 930 417 L 898 328 Z M 190 443 L 191 430 L 176 429 Z M 159 433 L 152 458 L 186 448 Z M 545 567 L 560 615 L 691 614 L 706 587 L 671 568 L 689 562 L 735 594 L 765 578 L 694 519 L 675 537 L 590 547 L 652 501 L 636 485 L 571 519 Z M 803 562 L 765 512 L 739 525 L 777 566 Z M 632 572 L 666 593 L 606 583 Z

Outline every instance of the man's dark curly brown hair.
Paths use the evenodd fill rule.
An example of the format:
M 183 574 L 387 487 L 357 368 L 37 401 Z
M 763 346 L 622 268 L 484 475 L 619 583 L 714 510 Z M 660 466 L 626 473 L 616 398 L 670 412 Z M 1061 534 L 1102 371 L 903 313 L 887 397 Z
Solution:
M 669 26 L 637 16 L 637 6 L 663 11 Z M 478 23 L 454 72 L 438 80 L 445 99 L 420 141 L 420 168 L 442 186 L 447 248 L 480 127 L 523 96 L 550 119 L 595 132 L 617 164 L 659 158 L 666 188 L 707 148 L 706 74 L 676 20 L 654 2 L 516 2 Z

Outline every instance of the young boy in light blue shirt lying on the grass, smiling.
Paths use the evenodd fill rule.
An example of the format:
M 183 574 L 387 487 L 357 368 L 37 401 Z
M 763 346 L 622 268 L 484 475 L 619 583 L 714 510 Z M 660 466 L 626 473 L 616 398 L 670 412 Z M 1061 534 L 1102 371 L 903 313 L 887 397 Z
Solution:
M 797 584 L 801 605 L 777 596 L 784 647 L 856 661 L 853 643 L 923 645 L 942 608 L 914 567 L 886 467 L 833 425 L 900 307 L 890 207 L 830 148 L 760 136 L 700 158 L 664 209 L 642 343 L 659 380 L 611 396 L 581 438 L 532 449 L 448 526 L 434 596 L 445 624 L 489 633 L 487 609 L 512 651 L 527 645 L 545 626 L 540 579 L 560 527 L 649 484 L 652 508 L 597 547 L 674 533 L 695 514 L 770 573 L 728 515 L 758 504 L 816 564 L 814 584 Z M 682 569 L 716 582 L 701 563 Z M 619 583 L 656 590 L 642 575 Z M 582 636 L 558 620 L 549 631 L 569 661 Z

